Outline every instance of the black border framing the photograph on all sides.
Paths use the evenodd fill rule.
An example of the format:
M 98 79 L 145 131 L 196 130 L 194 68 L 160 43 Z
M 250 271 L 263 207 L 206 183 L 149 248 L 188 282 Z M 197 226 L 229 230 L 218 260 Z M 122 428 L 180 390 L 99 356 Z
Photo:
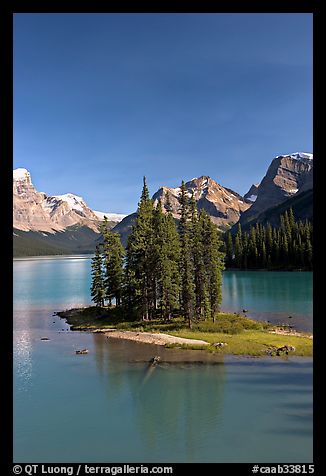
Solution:
M 5 207 L 2 209 L 1 218 L 4 220 L 2 226 L 2 238 L 5 235 L 5 244 L 3 244 L 3 258 L 6 263 L 2 267 L 2 291 L 6 297 L 5 309 L 2 319 L 5 320 L 5 326 L 1 329 L 1 346 L 2 357 L 7 364 L 6 368 L 6 383 L 2 386 L 2 395 L 6 395 L 7 401 L 3 404 L 3 413 L 7 418 L 8 424 L 1 425 L 4 432 L 4 444 L 3 444 L 3 457 L 5 456 L 6 467 L 8 468 L 8 474 L 12 474 L 13 464 L 13 428 L 12 428 L 12 415 L 13 415 L 13 374 L 12 374 L 12 307 L 13 307 L 13 288 L 12 288 L 12 189 L 11 189 L 11 174 L 13 168 L 13 14 L 15 13 L 312 13 L 313 14 L 313 43 L 314 43 L 314 66 L 313 66 L 313 97 L 314 97 L 314 309 L 315 309 L 315 323 L 318 324 L 318 334 L 314 332 L 314 464 L 315 474 L 320 474 L 319 464 L 321 463 L 322 455 L 322 443 L 321 438 L 318 438 L 318 434 L 321 435 L 321 423 L 320 413 L 323 408 L 321 402 L 320 384 L 322 380 L 322 345 L 323 345 L 323 333 L 322 333 L 322 321 L 326 318 L 323 316 L 322 306 L 322 285 L 323 276 L 321 268 L 321 260 L 319 259 L 320 250 L 322 250 L 323 234 L 321 229 L 321 220 L 318 218 L 323 217 L 323 196 L 321 190 L 324 179 L 322 174 L 322 161 L 326 160 L 322 156 L 320 142 L 320 122 L 319 117 L 322 113 L 322 106 L 320 104 L 320 98 L 322 94 L 322 88 L 320 83 L 323 80 L 322 73 L 320 71 L 320 33 L 322 31 L 322 23 L 320 16 L 321 2 L 306 1 L 306 0 L 275 0 L 275 1 L 233 1 L 224 2 L 214 5 L 200 4 L 198 8 L 192 8 L 188 11 L 184 10 L 181 5 L 174 5 L 170 7 L 162 2 L 162 5 L 158 3 L 154 5 L 142 6 L 137 5 L 135 8 L 134 2 L 124 2 L 120 6 L 117 4 L 105 5 L 104 2 L 89 2 L 89 7 L 86 5 L 73 4 L 72 2 L 46 2 L 37 4 L 37 2 L 3 2 L 1 4 L 1 47 L 2 47 L 2 68 L 0 75 L 1 82 L 1 136 L 0 144 L 2 148 L 1 154 L 1 191 L 4 190 Z M 109 8 L 108 8 L 109 7 Z M 319 195 L 320 194 L 320 195 Z M 319 210 L 320 208 L 320 210 Z M 3 240 L 2 240 L 3 242 Z M 318 258 L 318 261 L 316 260 Z M 316 262 L 317 261 L 317 262 Z M 320 314 L 317 315 L 319 311 Z M 317 321 L 318 319 L 318 321 Z M 314 326 L 315 331 L 315 326 Z M 4 431 L 5 430 L 5 431 Z M 119 463 L 117 463 L 119 464 Z M 132 463 L 130 463 L 132 464 Z M 138 463 L 140 464 L 140 463 Z M 144 463 L 146 465 L 146 463 Z M 56 464 L 59 466 L 59 464 Z M 194 466 L 195 465 L 195 466 Z M 267 465 L 267 464 L 266 464 Z M 70 465 L 71 466 L 71 465 Z M 96 466 L 94 464 L 94 466 Z M 110 464 L 113 466 L 113 464 Z M 150 467 L 151 465 L 147 465 Z M 176 474 L 179 470 L 184 471 L 187 469 L 195 469 L 199 471 L 203 470 L 228 470 L 234 469 L 237 474 L 252 474 L 252 465 L 241 463 L 178 463 L 167 464 L 162 466 L 173 466 Z M 231 467 L 230 467 L 231 466 Z M 239 472 L 241 471 L 241 473 Z M 224 471 L 223 471 L 224 474 Z

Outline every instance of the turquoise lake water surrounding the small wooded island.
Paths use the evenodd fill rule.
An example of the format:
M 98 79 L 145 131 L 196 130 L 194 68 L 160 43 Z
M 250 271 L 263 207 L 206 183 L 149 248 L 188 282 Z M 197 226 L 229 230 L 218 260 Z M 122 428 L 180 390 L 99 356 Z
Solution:
M 312 462 L 312 359 L 194 364 L 197 351 L 71 332 L 53 312 L 90 302 L 89 271 L 14 261 L 16 463 Z M 312 329 L 311 273 L 226 272 L 223 290 L 226 310 Z

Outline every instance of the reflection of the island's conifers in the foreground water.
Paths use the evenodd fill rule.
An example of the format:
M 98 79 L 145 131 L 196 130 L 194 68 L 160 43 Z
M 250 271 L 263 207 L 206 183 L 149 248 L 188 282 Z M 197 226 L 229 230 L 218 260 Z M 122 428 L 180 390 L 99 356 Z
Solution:
M 164 448 L 166 455 L 180 452 L 184 461 L 198 460 L 203 442 L 207 446 L 219 431 L 226 379 L 221 357 L 200 353 L 201 363 L 194 364 L 196 351 L 112 342 L 103 336 L 94 336 L 94 345 L 108 398 L 132 405 L 147 451 L 161 455 Z M 154 355 L 161 356 L 157 366 L 148 363 Z

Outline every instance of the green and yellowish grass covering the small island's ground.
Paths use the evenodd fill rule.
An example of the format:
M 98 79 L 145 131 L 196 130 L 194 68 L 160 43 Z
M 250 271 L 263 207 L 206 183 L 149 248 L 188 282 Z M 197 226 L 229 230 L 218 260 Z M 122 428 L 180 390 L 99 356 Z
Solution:
M 272 326 L 265 322 L 255 321 L 239 314 L 220 313 L 215 323 L 199 321 L 189 329 L 181 317 L 175 317 L 170 322 L 160 320 L 137 321 L 127 319 L 121 309 L 97 308 L 95 306 L 83 309 L 71 309 L 58 313 L 66 318 L 73 329 L 110 329 L 131 330 L 135 332 L 162 332 L 186 339 L 201 339 L 209 342 L 209 346 L 191 346 L 169 344 L 167 347 L 186 349 L 205 349 L 208 352 L 233 355 L 263 356 L 268 350 L 284 345 L 296 348 L 291 355 L 311 357 L 312 339 L 308 335 L 301 336 L 271 334 Z M 214 347 L 216 342 L 225 342 L 225 347 Z

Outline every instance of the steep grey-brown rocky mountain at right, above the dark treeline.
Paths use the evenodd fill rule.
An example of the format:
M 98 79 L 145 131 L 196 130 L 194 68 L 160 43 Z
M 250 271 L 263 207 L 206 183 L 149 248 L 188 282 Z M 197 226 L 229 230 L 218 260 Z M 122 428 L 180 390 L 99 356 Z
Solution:
M 275 157 L 261 183 L 245 194 L 252 206 L 241 215 L 241 225 L 263 222 L 262 213 L 312 188 L 313 154 L 295 152 Z

